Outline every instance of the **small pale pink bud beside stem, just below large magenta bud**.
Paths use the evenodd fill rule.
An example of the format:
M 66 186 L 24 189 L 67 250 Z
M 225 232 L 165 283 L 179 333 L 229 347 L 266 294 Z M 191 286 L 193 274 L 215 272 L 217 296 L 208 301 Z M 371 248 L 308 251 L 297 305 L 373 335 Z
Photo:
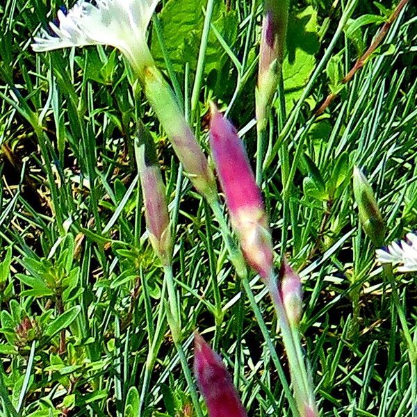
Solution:
M 302 315 L 302 284 L 300 276 L 284 258 L 279 271 L 281 297 L 290 325 L 297 326 Z

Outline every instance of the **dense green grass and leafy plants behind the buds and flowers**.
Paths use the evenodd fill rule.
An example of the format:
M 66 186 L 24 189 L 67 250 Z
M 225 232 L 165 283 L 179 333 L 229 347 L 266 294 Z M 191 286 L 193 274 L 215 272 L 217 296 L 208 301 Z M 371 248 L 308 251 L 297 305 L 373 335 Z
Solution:
M 271 117 L 263 195 L 277 262 L 286 254 L 304 281 L 301 329 L 318 404 L 324 416 L 412 416 L 412 364 L 391 287 L 359 227 L 351 177 L 354 165 L 367 173 L 389 240 L 416 228 L 416 6 L 407 4 L 343 85 L 397 3 L 291 3 L 285 95 Z M 144 236 L 137 113 L 167 184 L 188 357 L 199 329 L 222 352 L 250 416 L 291 415 L 218 224 L 140 88 L 131 88 L 120 54 L 31 50 L 31 36 L 59 6 L 0 4 L 1 416 L 137 416 L 140 395 L 146 416 L 193 416 L 163 312 L 163 272 Z M 203 0 L 161 1 L 152 52 L 205 149 L 213 99 L 243 131 L 254 162 L 261 1 L 215 1 L 200 84 L 204 8 Z M 330 92 L 338 97 L 315 115 Z M 414 341 L 416 277 L 395 275 Z M 251 279 L 287 371 L 272 306 Z M 143 390 L 149 352 L 157 360 Z

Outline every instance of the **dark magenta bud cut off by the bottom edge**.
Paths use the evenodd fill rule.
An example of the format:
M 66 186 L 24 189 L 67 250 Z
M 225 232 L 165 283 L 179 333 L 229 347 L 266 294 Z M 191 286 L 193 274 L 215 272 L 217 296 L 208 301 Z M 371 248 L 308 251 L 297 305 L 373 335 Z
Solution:
M 194 336 L 194 373 L 207 405 L 208 417 L 247 417 L 222 358 L 197 332 Z

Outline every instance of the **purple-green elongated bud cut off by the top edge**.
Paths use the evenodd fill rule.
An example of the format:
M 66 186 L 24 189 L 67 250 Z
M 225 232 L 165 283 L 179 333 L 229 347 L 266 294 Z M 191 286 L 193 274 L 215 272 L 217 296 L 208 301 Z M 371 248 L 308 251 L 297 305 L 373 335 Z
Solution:
M 284 60 L 288 26 L 288 0 L 265 0 L 259 51 L 256 119 L 262 124 L 277 90 L 279 66 Z

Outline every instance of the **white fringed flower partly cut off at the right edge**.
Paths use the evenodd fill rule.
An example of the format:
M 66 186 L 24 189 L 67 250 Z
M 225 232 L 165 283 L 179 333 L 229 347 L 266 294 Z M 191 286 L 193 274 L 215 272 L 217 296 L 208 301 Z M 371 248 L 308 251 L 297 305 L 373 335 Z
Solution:
M 399 243 L 392 242 L 384 249 L 377 249 L 377 261 L 398 265 L 399 272 L 417 271 L 417 234 L 409 233 Z

